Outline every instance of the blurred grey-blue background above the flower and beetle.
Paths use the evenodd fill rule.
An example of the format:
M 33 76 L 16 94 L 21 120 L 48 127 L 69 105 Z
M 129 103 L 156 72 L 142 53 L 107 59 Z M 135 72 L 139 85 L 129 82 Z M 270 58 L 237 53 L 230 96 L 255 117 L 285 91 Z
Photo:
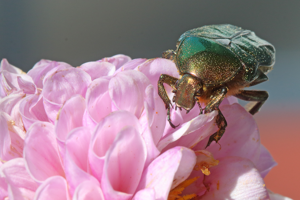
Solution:
M 28 71 L 40 59 L 76 67 L 115 54 L 161 57 L 203 25 L 252 30 L 276 48 L 268 105 L 300 103 L 300 1 L 0 1 L 0 57 Z

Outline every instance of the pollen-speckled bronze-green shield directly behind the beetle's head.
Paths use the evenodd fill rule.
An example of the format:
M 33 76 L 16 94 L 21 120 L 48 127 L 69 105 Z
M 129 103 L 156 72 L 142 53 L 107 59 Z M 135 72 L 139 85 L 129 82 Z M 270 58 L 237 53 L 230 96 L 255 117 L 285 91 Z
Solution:
M 230 49 L 204 37 L 182 40 L 176 61 L 180 73 L 190 73 L 206 85 L 227 82 L 243 67 Z

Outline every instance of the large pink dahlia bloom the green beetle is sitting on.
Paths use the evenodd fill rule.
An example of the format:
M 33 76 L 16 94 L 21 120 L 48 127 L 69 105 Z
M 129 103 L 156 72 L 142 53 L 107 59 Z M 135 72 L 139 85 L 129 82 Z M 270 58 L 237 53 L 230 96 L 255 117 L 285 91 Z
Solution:
M 284 198 L 266 189 L 276 163 L 237 99 L 221 103 L 228 127 L 205 149 L 217 112 L 171 109 L 170 127 L 162 73 L 178 77 L 163 58 L 41 60 L 27 74 L 3 59 L 0 200 Z

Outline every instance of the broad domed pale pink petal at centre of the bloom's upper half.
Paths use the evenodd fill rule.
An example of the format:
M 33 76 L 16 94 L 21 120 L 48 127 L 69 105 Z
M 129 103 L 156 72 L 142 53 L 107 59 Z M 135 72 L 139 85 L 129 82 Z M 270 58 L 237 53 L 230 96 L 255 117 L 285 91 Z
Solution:
M 132 112 L 140 118 L 144 109 L 145 89 L 149 84 L 149 79 L 143 73 L 122 71 L 110 80 L 110 98 L 118 109 Z

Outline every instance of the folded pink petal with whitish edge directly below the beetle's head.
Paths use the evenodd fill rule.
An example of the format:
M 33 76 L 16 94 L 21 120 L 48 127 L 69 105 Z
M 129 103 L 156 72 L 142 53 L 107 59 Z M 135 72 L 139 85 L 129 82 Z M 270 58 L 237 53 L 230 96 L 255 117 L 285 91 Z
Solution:
M 170 148 L 176 145 L 183 145 L 188 148 L 193 147 L 200 140 L 204 139 L 211 133 L 211 130 L 214 128 L 212 125 L 214 124 L 214 119 L 216 115 L 217 115 L 216 111 L 203 114 L 203 115 L 198 115 L 197 117 L 186 122 L 185 124 L 182 124 L 181 128 L 176 130 L 174 133 L 164 137 L 158 142 L 157 144 L 158 150 L 161 151 L 168 144 L 170 144 L 171 142 L 175 142 L 178 139 L 179 141 L 176 141 L 174 144 L 171 144 Z M 196 131 L 200 128 L 202 129 L 199 132 Z M 187 134 L 192 134 L 192 135 L 182 137 Z

